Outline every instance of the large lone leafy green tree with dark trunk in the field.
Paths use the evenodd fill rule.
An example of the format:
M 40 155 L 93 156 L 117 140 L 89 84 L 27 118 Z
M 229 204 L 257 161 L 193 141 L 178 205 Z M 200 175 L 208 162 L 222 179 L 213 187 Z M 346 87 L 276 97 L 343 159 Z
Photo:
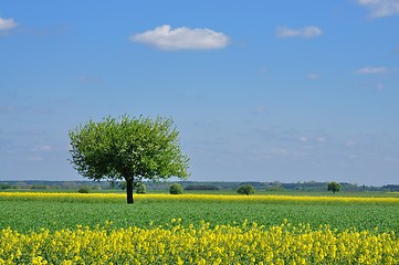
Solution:
M 71 163 L 93 180 L 125 180 L 127 203 L 144 179 L 187 179 L 189 158 L 180 149 L 179 132 L 169 118 L 107 117 L 70 130 Z

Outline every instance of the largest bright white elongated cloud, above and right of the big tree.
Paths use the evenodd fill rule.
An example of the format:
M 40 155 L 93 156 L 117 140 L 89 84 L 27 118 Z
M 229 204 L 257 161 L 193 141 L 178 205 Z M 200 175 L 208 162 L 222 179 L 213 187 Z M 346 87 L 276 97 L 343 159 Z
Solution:
M 168 24 L 132 35 L 130 40 L 161 50 L 211 50 L 225 47 L 229 43 L 229 38 L 221 32 L 186 26 L 172 30 Z

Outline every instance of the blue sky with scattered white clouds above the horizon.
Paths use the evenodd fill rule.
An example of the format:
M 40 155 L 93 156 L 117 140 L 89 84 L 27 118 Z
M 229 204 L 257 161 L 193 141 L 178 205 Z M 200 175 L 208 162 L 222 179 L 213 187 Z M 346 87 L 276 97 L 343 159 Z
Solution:
M 171 117 L 190 180 L 399 183 L 399 1 L 0 1 L 0 180 Z

